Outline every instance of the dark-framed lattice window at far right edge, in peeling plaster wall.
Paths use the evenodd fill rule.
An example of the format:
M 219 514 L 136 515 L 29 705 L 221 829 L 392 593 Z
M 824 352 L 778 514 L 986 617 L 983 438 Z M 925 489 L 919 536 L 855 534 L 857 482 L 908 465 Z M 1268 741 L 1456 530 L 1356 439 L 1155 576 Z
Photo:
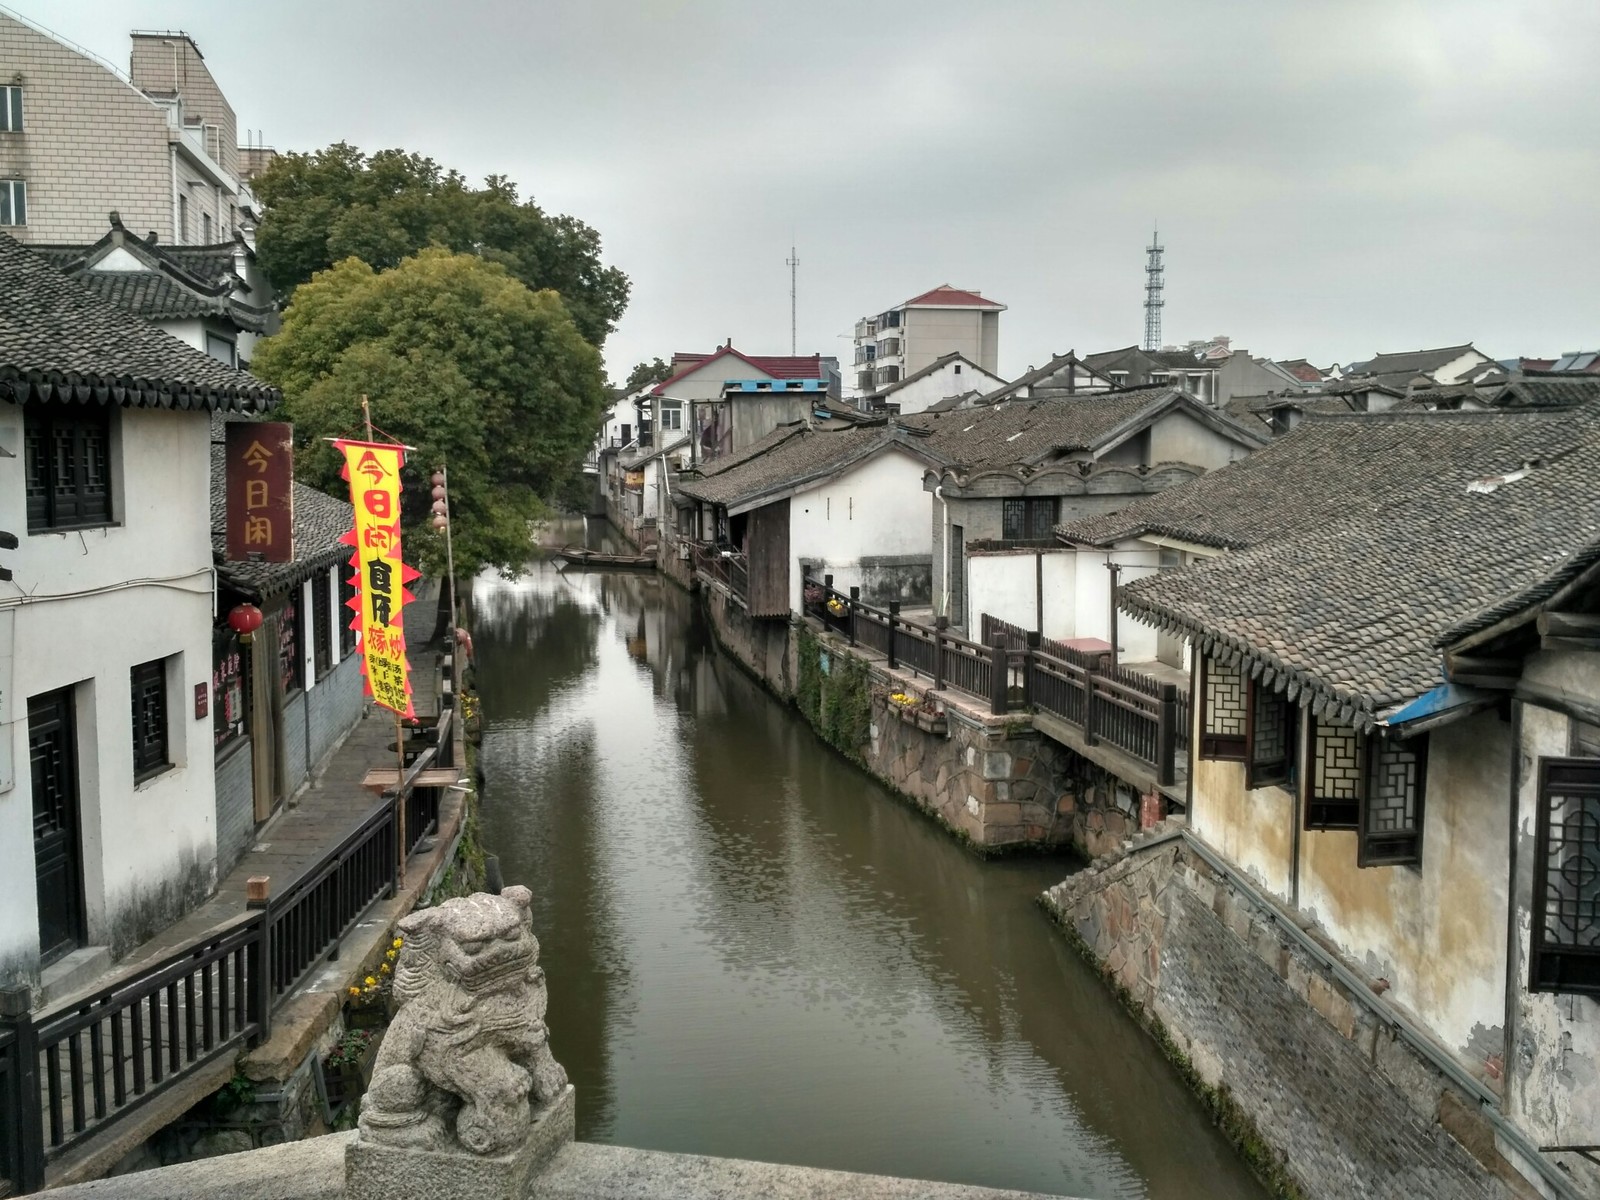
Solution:
M 1539 760 L 1528 989 L 1600 995 L 1600 758 Z

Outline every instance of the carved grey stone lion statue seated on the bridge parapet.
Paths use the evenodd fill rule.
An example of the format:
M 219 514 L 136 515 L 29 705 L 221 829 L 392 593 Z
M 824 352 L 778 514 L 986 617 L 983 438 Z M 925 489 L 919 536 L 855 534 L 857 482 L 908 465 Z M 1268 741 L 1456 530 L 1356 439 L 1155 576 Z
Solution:
M 544 1027 L 533 894 L 510 886 L 400 922 L 400 1008 L 362 1102 L 362 1138 L 421 1150 L 501 1155 L 534 1109 L 566 1088 Z

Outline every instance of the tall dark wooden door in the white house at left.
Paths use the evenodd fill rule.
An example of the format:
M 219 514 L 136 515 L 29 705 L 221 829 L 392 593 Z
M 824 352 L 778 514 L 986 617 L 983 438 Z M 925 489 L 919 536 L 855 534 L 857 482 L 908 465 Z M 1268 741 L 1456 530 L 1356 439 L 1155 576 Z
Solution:
M 72 690 L 27 702 L 34 771 L 34 874 L 38 880 L 38 955 L 48 966 L 83 944 L 83 838 L 78 821 Z

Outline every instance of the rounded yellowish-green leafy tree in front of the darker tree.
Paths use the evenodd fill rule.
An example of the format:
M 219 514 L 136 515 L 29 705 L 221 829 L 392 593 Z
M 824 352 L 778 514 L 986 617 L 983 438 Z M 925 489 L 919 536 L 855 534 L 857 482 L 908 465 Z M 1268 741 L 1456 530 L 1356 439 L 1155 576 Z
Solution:
M 445 560 L 429 523 L 429 474 L 450 467 L 456 571 L 528 558 L 528 522 L 576 472 L 605 406 L 600 352 L 562 298 L 530 291 L 474 254 L 424 250 L 390 270 L 346 259 L 296 290 L 283 330 L 256 347 L 251 371 L 283 389 L 299 478 L 347 496 L 323 438 L 373 424 L 408 454 L 406 557 Z

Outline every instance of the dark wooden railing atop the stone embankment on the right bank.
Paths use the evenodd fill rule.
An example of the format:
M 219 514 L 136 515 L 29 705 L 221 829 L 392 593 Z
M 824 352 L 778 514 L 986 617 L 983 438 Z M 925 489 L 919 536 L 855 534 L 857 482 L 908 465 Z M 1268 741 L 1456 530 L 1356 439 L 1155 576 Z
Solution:
M 853 646 L 875 650 L 890 667 L 930 680 L 934 691 L 955 688 L 989 702 L 992 714 L 1040 710 L 1077 725 L 1090 746 L 1110 742 L 1155 768 L 1171 784 L 1187 746 L 1189 706 L 1173 683 L 1112 667 L 1109 656 L 1046 642 L 989 614 L 982 642 L 950 634 L 944 618 L 933 629 L 906 621 L 899 603 L 862 603 L 861 589 L 842 592 L 834 578 L 805 586 L 805 611 L 845 635 Z

